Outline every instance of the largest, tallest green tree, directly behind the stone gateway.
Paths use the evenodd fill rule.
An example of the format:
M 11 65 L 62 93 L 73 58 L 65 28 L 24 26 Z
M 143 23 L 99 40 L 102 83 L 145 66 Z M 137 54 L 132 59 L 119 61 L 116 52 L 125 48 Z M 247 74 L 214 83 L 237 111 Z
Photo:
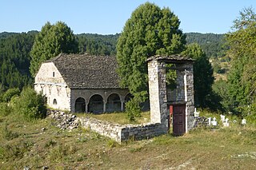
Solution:
M 169 8 L 150 2 L 138 6 L 127 20 L 118 38 L 118 73 L 120 84 L 130 89 L 135 101 L 145 101 L 148 94 L 146 58 L 180 53 L 185 48 L 186 37 L 179 25 Z

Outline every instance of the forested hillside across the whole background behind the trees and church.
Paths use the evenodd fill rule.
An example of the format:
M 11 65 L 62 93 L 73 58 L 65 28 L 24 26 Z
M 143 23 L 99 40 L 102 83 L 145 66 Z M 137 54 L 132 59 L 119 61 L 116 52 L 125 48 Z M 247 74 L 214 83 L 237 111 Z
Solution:
M 28 33 L 0 33 L 0 89 L 22 88 L 32 85 L 30 76 L 30 50 L 38 31 Z M 115 55 L 120 34 L 76 34 L 78 53 L 92 55 Z M 186 34 L 186 42 L 198 43 L 207 57 L 222 57 L 223 34 Z

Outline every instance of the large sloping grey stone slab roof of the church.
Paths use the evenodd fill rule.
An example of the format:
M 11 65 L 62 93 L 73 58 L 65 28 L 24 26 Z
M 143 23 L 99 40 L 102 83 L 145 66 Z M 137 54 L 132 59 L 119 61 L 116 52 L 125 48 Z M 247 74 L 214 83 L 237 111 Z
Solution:
M 53 62 L 70 89 L 119 89 L 117 61 L 110 56 L 59 54 Z

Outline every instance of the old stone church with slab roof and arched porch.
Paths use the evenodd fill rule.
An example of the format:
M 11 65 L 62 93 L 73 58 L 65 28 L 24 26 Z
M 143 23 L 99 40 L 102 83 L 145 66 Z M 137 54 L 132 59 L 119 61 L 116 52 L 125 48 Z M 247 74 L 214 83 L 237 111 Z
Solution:
M 34 89 L 46 96 L 53 109 L 121 112 L 131 95 L 119 87 L 116 69 L 115 57 L 62 53 L 42 63 Z

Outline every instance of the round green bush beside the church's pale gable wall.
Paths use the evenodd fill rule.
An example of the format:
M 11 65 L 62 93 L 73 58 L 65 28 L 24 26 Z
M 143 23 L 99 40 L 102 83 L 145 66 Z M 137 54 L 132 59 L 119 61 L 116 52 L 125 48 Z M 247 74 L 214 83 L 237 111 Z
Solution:
M 45 97 L 37 94 L 34 89 L 23 89 L 20 97 L 14 101 L 14 110 L 28 121 L 44 118 L 46 117 Z

